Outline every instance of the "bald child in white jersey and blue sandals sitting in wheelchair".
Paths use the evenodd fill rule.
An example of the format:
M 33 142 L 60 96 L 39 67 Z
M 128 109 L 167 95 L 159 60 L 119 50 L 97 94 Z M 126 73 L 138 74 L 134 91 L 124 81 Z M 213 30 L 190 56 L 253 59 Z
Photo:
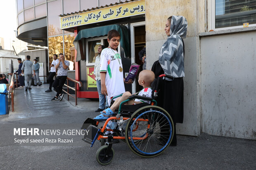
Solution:
M 143 96 L 143 97 L 152 97 L 152 88 L 150 87 L 152 82 L 154 81 L 155 75 L 154 72 L 151 70 L 142 70 L 139 74 L 138 83 L 143 86 L 143 89 L 135 94 Z M 123 93 L 123 95 L 120 98 L 117 98 L 114 103 L 111 105 L 110 108 L 107 108 L 100 112 L 101 114 L 99 116 L 96 116 L 93 118 L 96 121 L 105 121 L 107 120 L 111 115 L 114 114 L 115 109 L 119 109 L 119 105 L 121 102 L 127 100 L 132 94 L 129 91 L 126 91 Z M 141 99 L 135 99 L 135 100 L 129 100 L 126 102 L 126 105 L 136 105 L 139 103 L 150 103 L 150 101 L 147 100 L 141 100 Z

